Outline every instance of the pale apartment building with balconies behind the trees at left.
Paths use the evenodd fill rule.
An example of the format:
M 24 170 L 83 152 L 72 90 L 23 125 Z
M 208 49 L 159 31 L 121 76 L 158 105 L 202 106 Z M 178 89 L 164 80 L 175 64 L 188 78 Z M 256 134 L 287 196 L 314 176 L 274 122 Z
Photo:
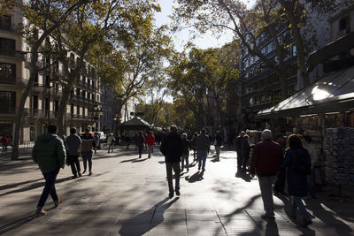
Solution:
M 20 34 L 20 27 L 25 23 L 19 8 L 0 17 L 0 133 L 12 139 L 14 120 L 19 110 L 19 101 L 29 78 L 26 51 L 27 43 Z M 46 42 L 50 42 L 47 39 Z M 70 57 L 77 60 L 72 52 Z M 50 58 L 41 57 L 42 65 L 50 64 Z M 57 75 L 61 65 L 50 65 L 38 73 L 34 87 L 27 97 L 25 117 L 21 128 L 20 143 L 35 141 L 35 137 L 44 133 L 46 126 L 56 123 L 62 88 Z M 65 113 L 65 133 L 70 127 L 82 132 L 85 127 L 99 130 L 99 120 L 103 115 L 101 81 L 96 75 L 96 68 L 86 62 L 86 70 L 81 73 L 79 83 L 72 90 Z

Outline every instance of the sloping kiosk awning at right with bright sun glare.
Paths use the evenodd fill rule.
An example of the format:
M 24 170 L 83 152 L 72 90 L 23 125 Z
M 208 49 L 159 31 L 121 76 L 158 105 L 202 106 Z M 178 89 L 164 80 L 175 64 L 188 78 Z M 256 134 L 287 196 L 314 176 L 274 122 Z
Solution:
M 298 117 L 354 109 L 354 66 L 332 72 L 270 109 L 261 118 Z

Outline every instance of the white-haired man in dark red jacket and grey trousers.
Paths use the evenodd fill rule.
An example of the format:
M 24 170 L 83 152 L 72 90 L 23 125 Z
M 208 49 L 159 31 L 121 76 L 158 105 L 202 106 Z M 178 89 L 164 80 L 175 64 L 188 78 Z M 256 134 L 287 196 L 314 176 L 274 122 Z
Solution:
M 279 163 L 283 156 L 281 145 L 272 141 L 272 131 L 265 129 L 262 132 L 262 141 L 253 148 L 253 155 L 250 163 L 250 174 L 257 173 L 260 192 L 266 214 L 261 217 L 273 220 L 273 185 L 279 170 Z

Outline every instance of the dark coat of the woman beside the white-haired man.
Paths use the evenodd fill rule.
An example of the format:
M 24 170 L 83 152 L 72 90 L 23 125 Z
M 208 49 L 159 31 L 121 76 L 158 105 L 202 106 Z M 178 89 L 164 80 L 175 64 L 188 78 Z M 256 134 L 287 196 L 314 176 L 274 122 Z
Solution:
M 296 171 L 301 164 L 311 166 L 309 152 L 305 148 L 289 148 L 285 152 L 285 166 L 287 167 L 288 191 L 292 196 L 307 195 L 307 178 L 300 176 Z

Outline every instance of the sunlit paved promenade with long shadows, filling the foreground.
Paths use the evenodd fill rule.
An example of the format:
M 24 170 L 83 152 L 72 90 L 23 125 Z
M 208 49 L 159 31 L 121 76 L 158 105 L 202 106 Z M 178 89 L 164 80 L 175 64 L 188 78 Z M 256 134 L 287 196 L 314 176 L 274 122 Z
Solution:
M 353 198 L 319 194 L 306 200 L 315 217 L 308 228 L 288 216 L 286 198 L 274 197 L 275 222 L 262 220 L 258 181 L 235 177 L 235 152 L 222 151 L 220 162 L 209 156 L 204 175 L 197 166 L 181 178 L 181 196 L 167 198 L 165 162 L 155 149 L 147 159 L 133 148 L 93 159 L 93 175 L 71 179 L 60 171 L 58 209 L 34 217 L 43 179 L 29 156 L 19 161 L 0 158 L 0 234 L 4 235 L 354 235 Z M 189 161 L 193 159 L 189 156 Z

